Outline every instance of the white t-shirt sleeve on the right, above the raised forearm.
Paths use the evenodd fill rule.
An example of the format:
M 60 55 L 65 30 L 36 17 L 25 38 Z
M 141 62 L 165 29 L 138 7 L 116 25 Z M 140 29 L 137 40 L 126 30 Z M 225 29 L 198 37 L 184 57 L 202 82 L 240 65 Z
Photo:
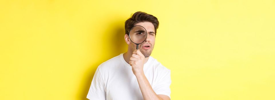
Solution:
M 159 74 L 157 83 L 153 87 L 153 90 L 157 95 L 167 95 L 169 98 L 171 94 L 170 85 L 171 85 L 171 71 L 165 71 L 165 73 Z

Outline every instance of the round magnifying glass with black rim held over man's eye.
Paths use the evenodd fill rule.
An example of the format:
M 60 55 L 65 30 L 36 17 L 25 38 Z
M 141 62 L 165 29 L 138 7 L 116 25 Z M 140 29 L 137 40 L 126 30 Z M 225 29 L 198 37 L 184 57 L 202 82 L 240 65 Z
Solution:
M 136 25 L 129 31 L 129 38 L 136 44 L 136 49 L 139 49 L 139 44 L 143 43 L 147 38 L 147 31 L 144 27 Z

